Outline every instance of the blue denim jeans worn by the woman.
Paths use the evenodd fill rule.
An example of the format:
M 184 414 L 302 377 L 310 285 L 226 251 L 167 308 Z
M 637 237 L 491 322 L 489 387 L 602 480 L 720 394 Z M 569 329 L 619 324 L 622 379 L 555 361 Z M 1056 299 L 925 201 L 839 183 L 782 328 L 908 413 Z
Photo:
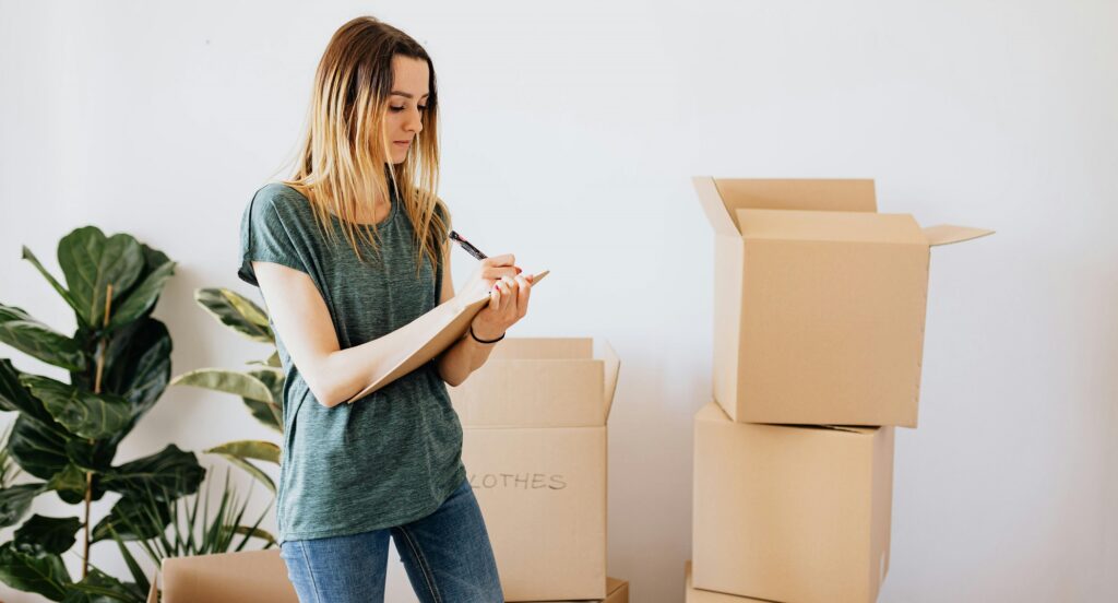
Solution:
M 300 603 L 382 602 L 389 535 L 423 603 L 504 601 L 481 508 L 463 480 L 435 512 L 410 524 L 285 541 L 280 556 Z

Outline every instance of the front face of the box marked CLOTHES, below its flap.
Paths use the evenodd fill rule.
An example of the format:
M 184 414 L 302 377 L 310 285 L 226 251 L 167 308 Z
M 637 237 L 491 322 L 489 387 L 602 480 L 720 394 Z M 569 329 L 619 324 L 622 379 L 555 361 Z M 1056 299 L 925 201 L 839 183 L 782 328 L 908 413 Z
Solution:
M 466 428 L 506 601 L 606 596 L 606 427 Z

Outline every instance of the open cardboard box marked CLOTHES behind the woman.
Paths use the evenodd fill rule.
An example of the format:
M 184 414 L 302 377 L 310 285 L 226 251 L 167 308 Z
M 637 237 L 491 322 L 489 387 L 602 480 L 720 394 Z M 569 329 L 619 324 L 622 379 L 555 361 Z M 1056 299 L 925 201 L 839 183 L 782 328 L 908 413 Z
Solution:
M 593 339 L 508 339 L 451 389 L 508 601 L 606 597 L 606 421 L 618 365 Z

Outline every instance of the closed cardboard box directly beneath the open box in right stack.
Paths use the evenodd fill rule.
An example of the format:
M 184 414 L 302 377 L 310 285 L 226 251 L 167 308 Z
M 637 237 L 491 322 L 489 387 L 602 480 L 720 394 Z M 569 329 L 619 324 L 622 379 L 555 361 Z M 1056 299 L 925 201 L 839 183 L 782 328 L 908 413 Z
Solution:
M 694 586 L 872 603 L 889 571 L 893 427 L 694 420 Z

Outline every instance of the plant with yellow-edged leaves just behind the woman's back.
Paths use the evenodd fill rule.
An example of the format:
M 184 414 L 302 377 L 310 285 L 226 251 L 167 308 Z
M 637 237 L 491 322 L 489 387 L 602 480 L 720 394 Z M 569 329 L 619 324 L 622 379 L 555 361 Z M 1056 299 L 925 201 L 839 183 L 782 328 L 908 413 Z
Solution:
M 218 322 L 237 335 L 275 346 L 275 333 L 268 326 L 268 315 L 248 298 L 224 288 L 199 289 L 195 301 Z M 214 392 L 233 394 L 241 399 L 248 412 L 268 428 L 283 433 L 284 374 L 280 369 L 280 352 L 273 350 L 265 360 L 248 362 L 254 368 L 246 371 L 224 368 L 200 368 L 179 375 L 171 385 L 189 385 Z M 220 454 L 230 463 L 244 469 L 260 481 L 273 494 L 275 482 L 250 461 L 280 464 L 280 446 L 262 440 L 227 442 L 206 450 Z

